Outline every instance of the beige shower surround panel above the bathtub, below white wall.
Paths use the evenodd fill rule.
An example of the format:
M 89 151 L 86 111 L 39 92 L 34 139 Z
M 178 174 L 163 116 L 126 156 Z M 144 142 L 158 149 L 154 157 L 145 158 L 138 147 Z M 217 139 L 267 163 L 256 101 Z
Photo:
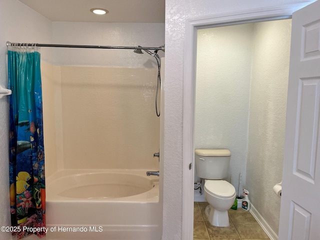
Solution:
M 46 65 L 43 88 L 54 89 L 43 110 L 55 126 L 55 136 L 53 128 L 46 136 L 55 142 L 46 156 L 52 169 L 158 169 L 157 69 Z

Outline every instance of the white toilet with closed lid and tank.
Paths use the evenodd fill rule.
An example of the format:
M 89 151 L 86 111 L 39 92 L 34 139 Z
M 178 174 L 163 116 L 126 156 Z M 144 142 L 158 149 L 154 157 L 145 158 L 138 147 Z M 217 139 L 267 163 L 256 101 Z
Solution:
M 236 193 L 234 186 L 223 178 L 228 176 L 231 152 L 228 149 L 195 149 L 194 155 L 196 175 L 205 180 L 208 221 L 213 226 L 229 226 L 227 210 L 234 203 Z

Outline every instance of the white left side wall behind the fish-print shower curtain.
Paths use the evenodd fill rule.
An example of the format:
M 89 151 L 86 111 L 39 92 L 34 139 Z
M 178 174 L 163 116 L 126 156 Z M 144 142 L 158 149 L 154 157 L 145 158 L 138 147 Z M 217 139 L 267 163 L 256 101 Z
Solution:
M 0 85 L 7 87 L 6 41 L 50 42 L 51 21 L 17 0 L 0 2 Z M 43 53 L 43 54 L 42 54 Z M 48 50 L 41 55 L 49 57 Z M 47 58 L 44 57 L 44 60 Z M 10 225 L 8 178 L 8 98 L 0 99 L 0 225 Z M 0 232 L 0 239 L 10 239 L 10 233 Z

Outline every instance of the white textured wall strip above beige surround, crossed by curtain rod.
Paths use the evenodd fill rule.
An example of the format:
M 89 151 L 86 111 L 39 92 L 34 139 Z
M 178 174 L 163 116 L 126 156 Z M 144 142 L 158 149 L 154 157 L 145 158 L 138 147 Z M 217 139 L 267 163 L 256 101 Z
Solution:
M 107 46 L 150 46 L 164 44 L 163 23 L 52 22 L 53 41 L 57 44 Z M 153 51 L 152 51 L 153 52 Z M 163 51 L 158 51 L 164 56 Z M 157 67 L 154 57 L 132 49 L 55 48 L 56 65 L 119 67 Z

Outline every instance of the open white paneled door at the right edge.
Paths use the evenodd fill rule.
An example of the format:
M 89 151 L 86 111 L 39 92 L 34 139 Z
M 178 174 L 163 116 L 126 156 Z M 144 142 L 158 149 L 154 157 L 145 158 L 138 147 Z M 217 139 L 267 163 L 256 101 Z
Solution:
M 318 0 L 292 14 L 279 240 L 320 239 L 319 114 Z

